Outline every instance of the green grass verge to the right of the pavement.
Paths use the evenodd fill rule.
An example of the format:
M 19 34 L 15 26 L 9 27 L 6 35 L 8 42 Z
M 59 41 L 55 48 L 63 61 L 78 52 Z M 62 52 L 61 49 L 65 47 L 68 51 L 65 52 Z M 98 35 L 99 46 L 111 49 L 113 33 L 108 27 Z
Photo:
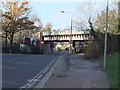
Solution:
M 106 71 L 110 76 L 110 88 L 118 88 L 118 59 L 120 54 L 112 55 L 107 58 Z M 119 85 L 120 87 L 120 85 Z

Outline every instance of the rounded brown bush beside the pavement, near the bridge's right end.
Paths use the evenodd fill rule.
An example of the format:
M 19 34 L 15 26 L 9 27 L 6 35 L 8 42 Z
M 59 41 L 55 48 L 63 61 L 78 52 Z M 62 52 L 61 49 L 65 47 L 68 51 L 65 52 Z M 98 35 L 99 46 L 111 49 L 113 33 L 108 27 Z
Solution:
M 101 55 L 100 45 L 95 41 L 90 41 L 85 49 L 85 55 L 91 59 L 98 58 Z

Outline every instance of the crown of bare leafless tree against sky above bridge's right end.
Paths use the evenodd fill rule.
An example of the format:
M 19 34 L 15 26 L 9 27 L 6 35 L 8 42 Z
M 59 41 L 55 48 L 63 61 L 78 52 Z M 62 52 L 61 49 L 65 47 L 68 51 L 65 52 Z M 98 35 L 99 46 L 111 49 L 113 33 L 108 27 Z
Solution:
M 84 23 L 84 27 L 91 28 L 89 22 L 91 22 L 93 26 L 98 13 L 95 8 L 96 3 L 93 3 L 91 0 L 86 0 L 85 3 L 77 7 L 78 13 L 80 13 L 80 16 L 78 17 L 79 21 L 80 23 Z

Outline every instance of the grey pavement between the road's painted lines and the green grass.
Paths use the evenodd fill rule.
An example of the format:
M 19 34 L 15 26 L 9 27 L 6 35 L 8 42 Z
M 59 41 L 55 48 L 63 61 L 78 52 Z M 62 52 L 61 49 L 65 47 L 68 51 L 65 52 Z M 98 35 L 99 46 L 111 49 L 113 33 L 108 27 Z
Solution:
M 109 78 L 97 61 L 84 55 L 66 56 L 42 88 L 109 88 Z

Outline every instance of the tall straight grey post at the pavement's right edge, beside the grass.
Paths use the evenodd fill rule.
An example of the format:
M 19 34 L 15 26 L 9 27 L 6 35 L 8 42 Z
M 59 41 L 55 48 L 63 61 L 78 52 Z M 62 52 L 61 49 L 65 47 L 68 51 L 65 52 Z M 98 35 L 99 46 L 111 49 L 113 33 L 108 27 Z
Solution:
M 104 62 L 103 68 L 106 68 L 106 55 L 107 55 L 107 30 L 108 30 L 108 0 L 106 0 L 106 25 L 105 25 L 105 45 L 104 45 Z

